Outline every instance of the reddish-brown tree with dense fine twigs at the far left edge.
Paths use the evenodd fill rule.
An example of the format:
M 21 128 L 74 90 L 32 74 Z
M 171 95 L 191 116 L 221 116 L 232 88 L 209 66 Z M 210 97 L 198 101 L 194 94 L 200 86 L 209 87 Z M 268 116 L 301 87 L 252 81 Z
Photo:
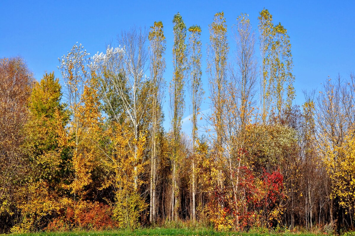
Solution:
M 7 232 L 15 214 L 15 193 L 23 181 L 27 163 L 21 148 L 28 120 L 28 98 L 31 95 L 33 74 L 20 58 L 0 59 L 0 222 Z

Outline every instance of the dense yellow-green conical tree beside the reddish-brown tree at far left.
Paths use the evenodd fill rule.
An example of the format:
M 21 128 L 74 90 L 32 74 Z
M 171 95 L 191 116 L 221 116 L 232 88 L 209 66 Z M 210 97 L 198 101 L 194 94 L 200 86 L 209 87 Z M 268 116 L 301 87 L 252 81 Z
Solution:
M 54 73 L 45 73 L 40 82 L 35 82 L 29 100 L 31 121 L 26 124 L 24 147 L 33 160 L 34 174 L 40 175 L 33 176 L 36 181 L 40 178 L 52 182 L 62 177 L 54 174 L 60 172 L 62 151 L 67 147 L 68 139 L 65 128 L 68 114 L 61 98 L 61 85 Z

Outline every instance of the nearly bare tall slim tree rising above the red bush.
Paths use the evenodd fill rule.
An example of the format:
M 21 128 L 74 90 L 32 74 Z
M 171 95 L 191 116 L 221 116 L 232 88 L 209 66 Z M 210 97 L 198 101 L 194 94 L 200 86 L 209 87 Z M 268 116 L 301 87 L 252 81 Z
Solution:
M 225 146 L 228 152 L 229 179 L 233 189 L 236 224 L 239 224 L 239 185 L 240 168 L 245 164 L 245 154 L 234 150 L 245 149 L 247 140 L 245 127 L 251 123 L 253 106 L 255 105 L 255 84 L 257 80 L 257 61 L 255 58 L 255 33 L 252 30 L 247 14 L 241 14 L 232 27 L 236 50 L 234 51 L 234 66 L 230 66 L 231 78 L 226 91 Z

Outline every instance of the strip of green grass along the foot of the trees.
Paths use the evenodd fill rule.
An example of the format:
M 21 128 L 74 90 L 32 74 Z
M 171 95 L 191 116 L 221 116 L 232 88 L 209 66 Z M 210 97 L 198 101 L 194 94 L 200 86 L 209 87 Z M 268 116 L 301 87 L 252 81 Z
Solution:
M 31 234 L 11 234 L 12 236 L 294 236 L 291 233 L 238 233 L 238 232 L 216 232 L 209 229 L 165 229 L 165 228 L 146 228 L 134 231 L 121 230 L 121 231 L 90 231 L 90 232 L 43 232 Z M 9 235 L 9 236 L 11 236 Z M 315 234 L 302 233 L 296 234 L 299 236 L 315 236 Z

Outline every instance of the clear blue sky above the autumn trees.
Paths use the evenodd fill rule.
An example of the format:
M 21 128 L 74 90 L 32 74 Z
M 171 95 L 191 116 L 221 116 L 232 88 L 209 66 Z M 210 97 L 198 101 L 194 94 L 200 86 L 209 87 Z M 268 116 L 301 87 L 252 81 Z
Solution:
M 344 78 L 355 71 L 355 1 L 0 1 L 0 58 L 20 55 L 39 80 L 45 71 L 60 77 L 58 57 L 76 42 L 91 54 L 116 44 L 116 35 L 129 27 L 149 27 L 163 21 L 167 40 L 165 79 L 172 76 L 173 24 L 180 12 L 187 27 L 202 27 L 203 53 L 208 42 L 208 24 L 213 15 L 224 11 L 227 25 L 240 13 L 250 16 L 257 30 L 258 13 L 265 7 L 274 23 L 288 30 L 292 44 L 296 100 L 303 102 L 302 90 L 340 73 Z M 258 46 L 257 46 L 258 47 Z M 257 51 L 258 54 L 258 51 Z M 205 57 L 203 59 L 205 61 Z M 205 66 L 205 64 L 203 64 Z M 204 71 L 204 69 L 203 69 Z M 208 90 L 207 77 L 203 75 Z M 208 92 L 206 93 L 208 95 Z M 168 100 L 169 96 L 166 96 Z M 188 96 L 186 95 L 186 98 Z M 188 101 L 188 99 L 187 99 Z M 167 106 L 167 102 L 165 106 Z M 205 103 L 202 109 L 207 109 Z M 189 114 L 186 106 L 185 117 Z M 186 122 L 184 130 L 189 130 Z M 169 126 L 166 109 L 164 126 Z

